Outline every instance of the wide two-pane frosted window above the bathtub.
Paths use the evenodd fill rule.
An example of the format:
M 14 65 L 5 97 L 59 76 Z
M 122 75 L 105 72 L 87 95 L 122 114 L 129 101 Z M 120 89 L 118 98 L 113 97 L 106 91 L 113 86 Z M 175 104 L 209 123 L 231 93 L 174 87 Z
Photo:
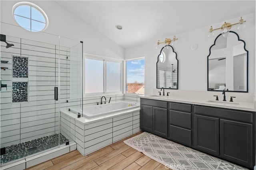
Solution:
M 86 57 L 84 72 L 85 94 L 122 91 L 122 61 Z

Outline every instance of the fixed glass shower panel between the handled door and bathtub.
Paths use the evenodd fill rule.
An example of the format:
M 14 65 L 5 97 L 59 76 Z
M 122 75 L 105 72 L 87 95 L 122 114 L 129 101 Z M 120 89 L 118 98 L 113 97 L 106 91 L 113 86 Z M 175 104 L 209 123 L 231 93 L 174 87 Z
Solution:
M 56 62 L 60 62 L 60 111 L 82 107 L 82 50 L 82 41 L 78 43 L 76 40 L 60 37 L 60 60 Z M 82 117 L 82 113 L 79 114 Z M 60 113 L 60 134 L 72 143 L 75 141 L 75 123 L 69 116 Z

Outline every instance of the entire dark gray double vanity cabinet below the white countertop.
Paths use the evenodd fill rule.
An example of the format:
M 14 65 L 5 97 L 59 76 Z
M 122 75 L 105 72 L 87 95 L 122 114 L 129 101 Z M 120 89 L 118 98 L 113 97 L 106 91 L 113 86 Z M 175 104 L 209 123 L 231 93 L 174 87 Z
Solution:
M 140 128 L 253 168 L 255 112 L 140 98 Z

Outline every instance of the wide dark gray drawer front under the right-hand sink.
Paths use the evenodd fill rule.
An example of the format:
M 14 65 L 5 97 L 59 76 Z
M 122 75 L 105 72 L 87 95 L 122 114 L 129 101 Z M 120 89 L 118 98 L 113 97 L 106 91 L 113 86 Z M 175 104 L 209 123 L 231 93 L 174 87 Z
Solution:
M 253 122 L 253 113 L 238 110 L 219 109 L 215 107 L 195 106 L 195 113 L 209 115 L 219 118 L 232 119 L 237 121 L 244 121 L 248 123 Z

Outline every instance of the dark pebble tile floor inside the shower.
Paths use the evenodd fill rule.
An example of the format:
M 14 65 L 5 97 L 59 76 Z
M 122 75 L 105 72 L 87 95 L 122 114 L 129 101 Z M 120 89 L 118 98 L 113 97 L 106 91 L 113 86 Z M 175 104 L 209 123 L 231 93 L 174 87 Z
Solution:
M 60 134 L 60 145 L 66 144 L 68 139 Z M 19 143 L 6 147 L 6 154 L 0 156 L 0 164 L 5 164 L 13 160 L 24 158 L 47 149 L 58 146 L 58 134 L 41 137 L 32 141 Z

